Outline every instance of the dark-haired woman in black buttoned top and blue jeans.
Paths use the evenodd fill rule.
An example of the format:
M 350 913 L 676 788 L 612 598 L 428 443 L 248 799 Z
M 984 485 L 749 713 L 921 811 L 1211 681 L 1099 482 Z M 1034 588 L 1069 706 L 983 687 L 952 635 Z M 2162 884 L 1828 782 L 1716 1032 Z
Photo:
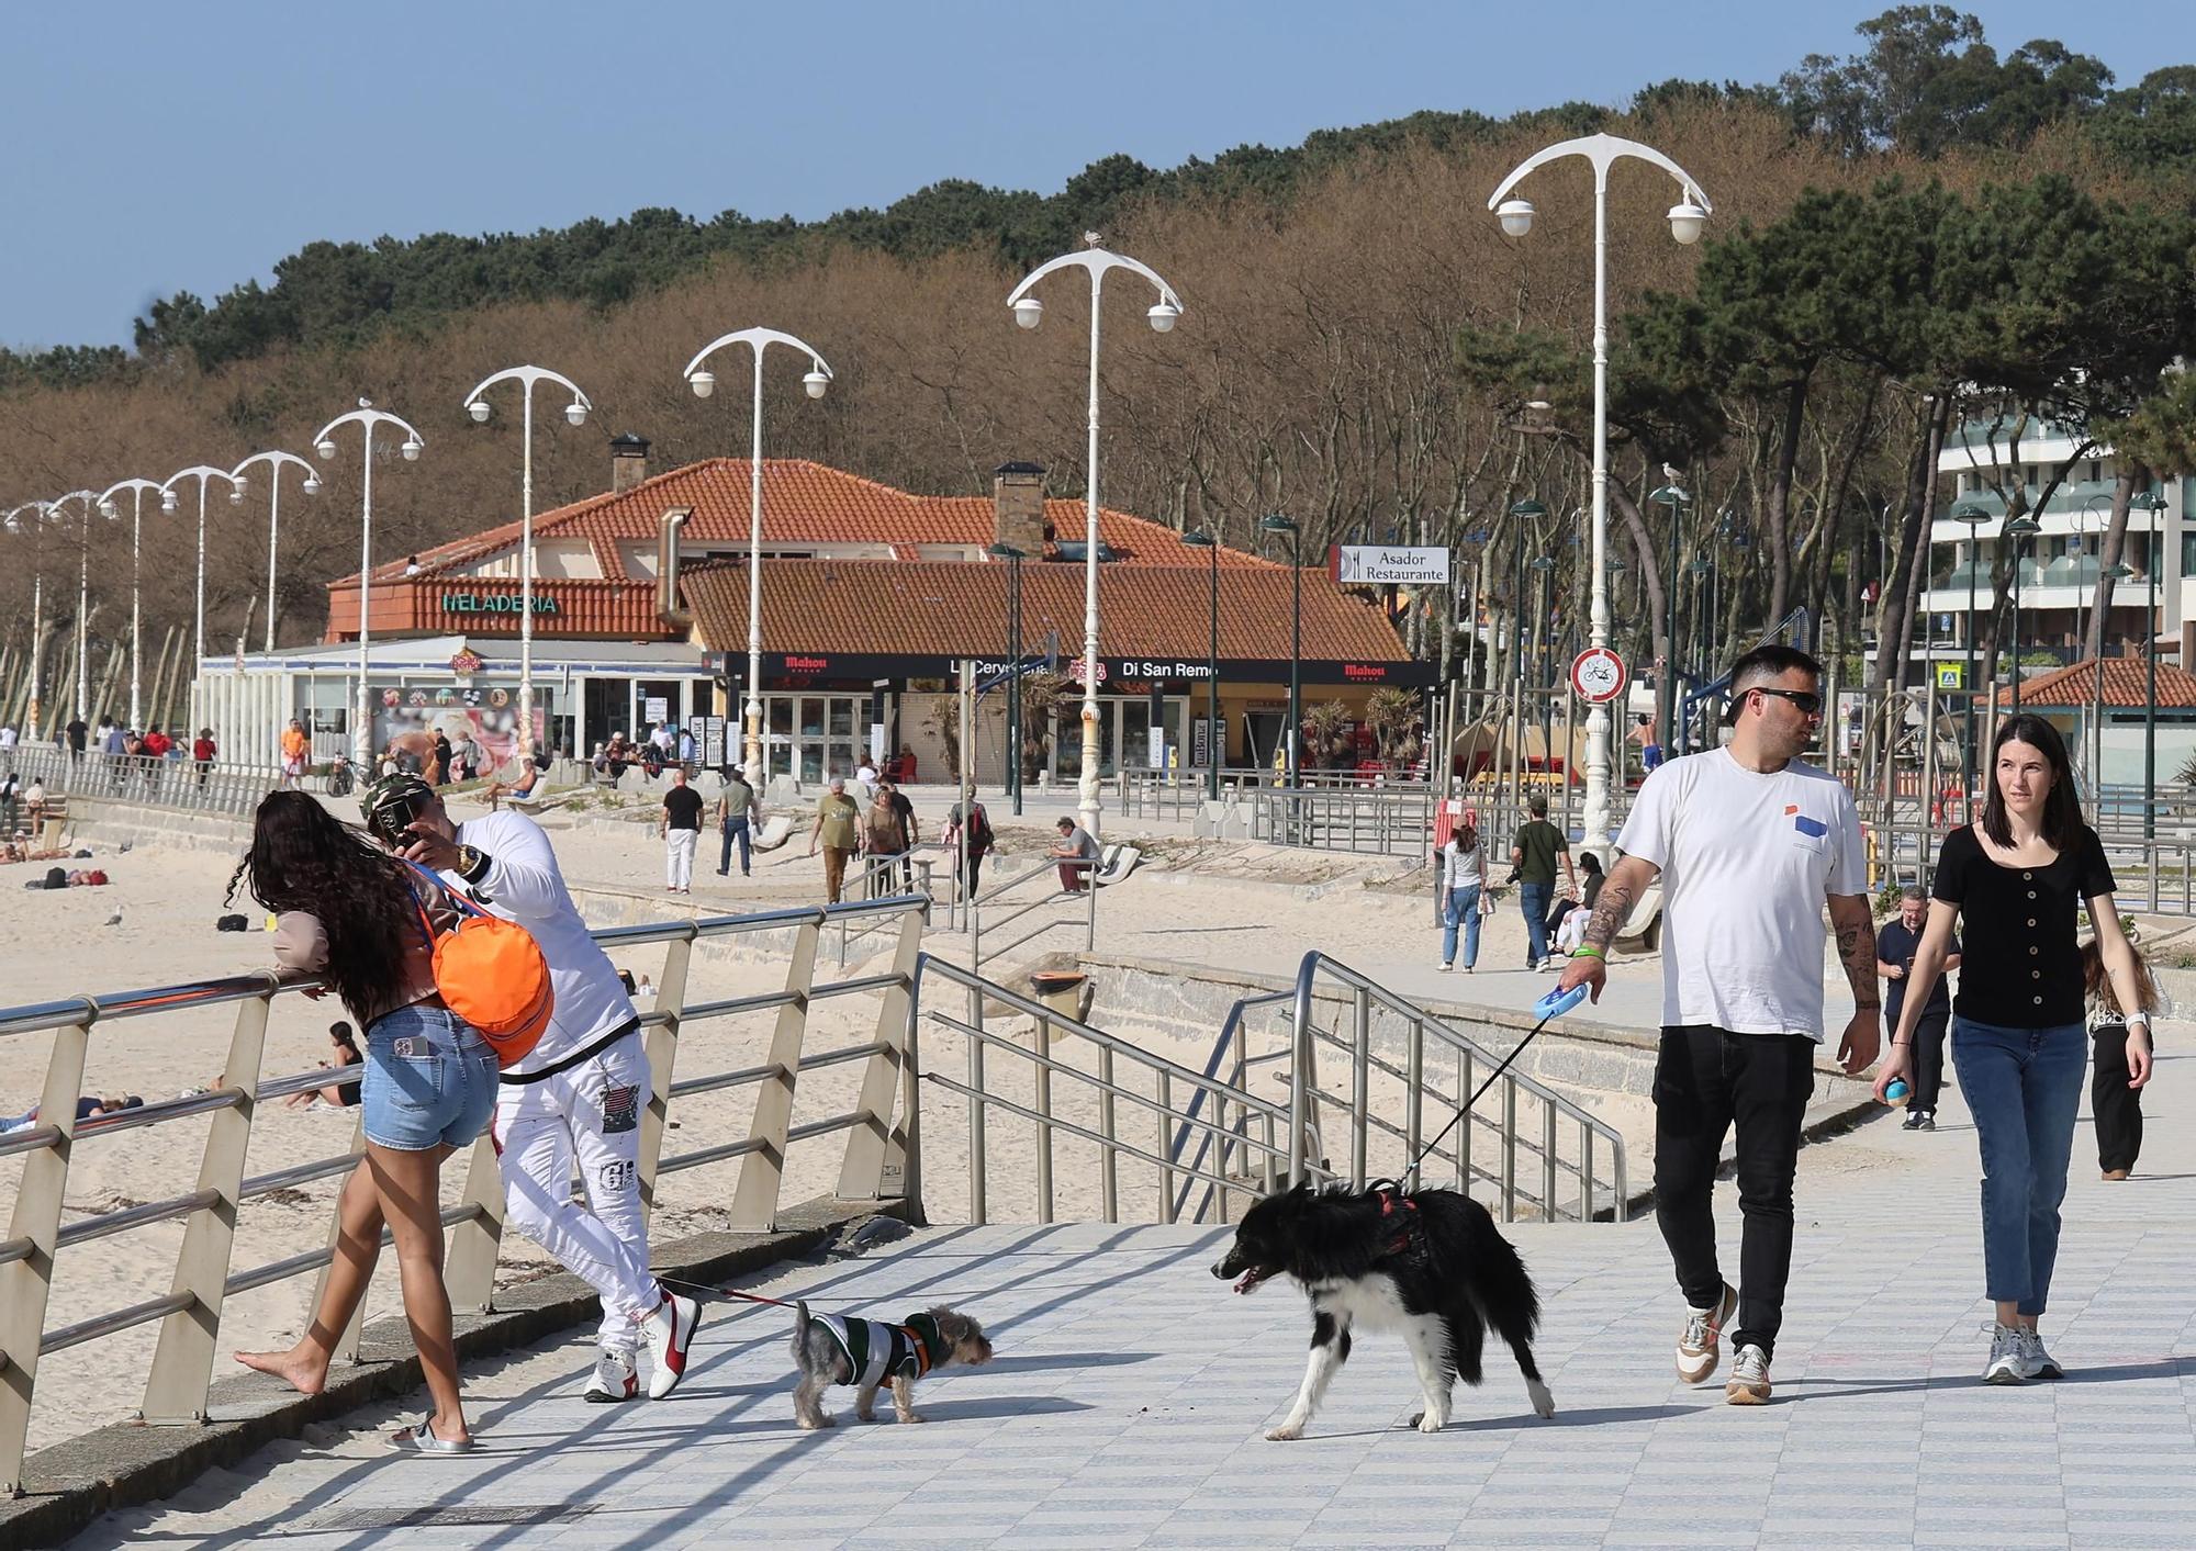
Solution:
M 2080 905 L 2088 905 L 2121 1006 L 2141 1006 L 2141 997 L 2135 953 L 2113 907 L 2113 868 L 2082 822 L 2058 729 L 2038 716 L 2009 716 L 1990 767 L 1981 824 L 1952 830 L 1937 852 L 1928 927 L 1875 1096 L 1913 1068 L 1915 1026 L 1961 918 L 1952 1068 L 1983 1149 L 1983 1276 L 1998 1305 L 1983 1380 L 2023 1384 L 2060 1377 L 2036 1320 L 2051 1294 L 2058 1208 L 2088 1070 Z M 2150 1076 L 2150 1026 L 2141 1015 L 2128 1030 L 2128 1072 L 2137 1087 Z

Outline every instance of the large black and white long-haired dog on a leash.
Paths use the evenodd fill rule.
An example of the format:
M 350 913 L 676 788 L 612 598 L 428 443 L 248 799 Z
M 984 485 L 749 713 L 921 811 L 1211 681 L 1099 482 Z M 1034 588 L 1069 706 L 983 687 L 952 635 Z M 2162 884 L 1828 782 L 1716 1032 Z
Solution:
M 1533 1364 L 1539 1294 L 1487 1215 L 1456 1191 L 1311 1191 L 1298 1184 L 1243 1213 L 1236 1239 L 1212 1274 L 1252 1292 L 1291 1276 L 1311 1296 L 1311 1362 L 1287 1419 L 1269 1439 L 1300 1439 L 1335 1369 L 1351 1355 L 1351 1327 L 1397 1329 L 1419 1366 L 1425 1410 L 1412 1426 L 1441 1432 L 1456 1380 L 1480 1382 L 1487 1327 L 1509 1342 L 1533 1410 L 1555 1415 L 1555 1397 Z

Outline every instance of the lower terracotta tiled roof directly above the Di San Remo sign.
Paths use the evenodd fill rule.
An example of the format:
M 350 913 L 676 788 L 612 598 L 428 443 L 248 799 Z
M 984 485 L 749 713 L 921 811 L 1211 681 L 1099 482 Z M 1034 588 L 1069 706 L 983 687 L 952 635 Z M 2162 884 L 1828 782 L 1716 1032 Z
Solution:
M 1004 565 L 951 560 L 771 560 L 762 567 L 762 639 L 773 652 L 955 657 L 1006 650 Z M 1102 657 L 1203 659 L 1210 631 L 1206 567 L 1120 567 L 1098 576 Z M 1221 571 L 1221 659 L 1289 659 L 1289 571 Z M 747 567 L 698 565 L 681 576 L 696 637 L 718 650 L 747 641 Z M 1021 567 L 1021 639 L 1058 631 L 1061 655 L 1083 646 L 1083 567 Z M 1381 611 L 1304 571 L 1307 661 L 1408 661 Z

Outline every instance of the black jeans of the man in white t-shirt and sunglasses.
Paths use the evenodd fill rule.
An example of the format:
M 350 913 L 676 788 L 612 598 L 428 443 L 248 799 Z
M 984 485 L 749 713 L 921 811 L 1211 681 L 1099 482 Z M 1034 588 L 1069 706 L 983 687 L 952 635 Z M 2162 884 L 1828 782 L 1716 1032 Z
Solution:
M 1662 1241 L 1687 1305 L 1724 1298 L 1715 1261 L 1715 1167 L 1739 1127 L 1739 1325 L 1733 1349 L 1777 1353 L 1792 1274 L 1792 1173 L 1799 1127 L 1814 1092 L 1805 1035 L 1733 1035 L 1706 1024 L 1665 1026 L 1654 1074 L 1654 1195 Z

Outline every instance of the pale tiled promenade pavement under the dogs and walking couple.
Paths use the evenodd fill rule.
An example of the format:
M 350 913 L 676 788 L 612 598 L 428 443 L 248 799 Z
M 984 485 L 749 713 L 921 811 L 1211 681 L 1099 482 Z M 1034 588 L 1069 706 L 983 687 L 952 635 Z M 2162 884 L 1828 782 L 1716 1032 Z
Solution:
M 2167 1024 L 2172 1050 L 2189 1033 Z M 999 1358 L 920 1386 L 929 1426 L 793 1428 L 786 1316 L 716 1305 L 663 1404 L 586 1406 L 582 1340 L 468 1375 L 483 1448 L 393 1457 L 351 1417 L 116 1514 L 79 1544 L 382 1547 L 2189 1547 L 2196 1544 L 2196 1063 L 2167 1059 L 2128 1184 L 2075 1140 L 2044 1334 L 2060 1384 L 1976 1382 L 1974 1134 L 1891 1123 L 1801 1160 L 1777 1399 L 1671 1377 L 1654 1224 L 1517 1228 L 1548 1305 L 1531 1415 L 1506 1358 L 1438 1437 L 1403 1430 L 1403 1349 L 1366 1338 L 1300 1443 L 1267 1443 L 1302 1369 L 1282 1283 L 1236 1298 L 1219 1235 L 938 1228 L 762 1292 L 900 1316 L 953 1301 Z M 944 1167 L 944 1160 L 933 1160 Z M 1724 1186 L 1726 1254 L 1737 1213 Z M 843 1413 L 848 1391 L 832 1391 Z M 889 1417 L 889 1404 L 881 1406 Z

